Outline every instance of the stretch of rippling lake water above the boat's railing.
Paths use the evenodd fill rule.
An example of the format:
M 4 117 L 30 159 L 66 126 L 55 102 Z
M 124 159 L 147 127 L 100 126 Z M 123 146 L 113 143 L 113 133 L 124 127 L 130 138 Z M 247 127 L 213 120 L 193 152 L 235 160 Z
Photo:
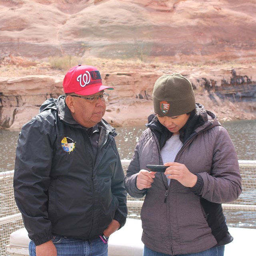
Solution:
M 256 160 L 256 120 L 228 121 L 222 123 L 228 130 L 239 160 Z M 145 126 L 116 128 L 116 144 L 121 159 L 131 159 L 134 147 Z M 14 169 L 15 150 L 19 130 L 0 130 L 0 172 Z

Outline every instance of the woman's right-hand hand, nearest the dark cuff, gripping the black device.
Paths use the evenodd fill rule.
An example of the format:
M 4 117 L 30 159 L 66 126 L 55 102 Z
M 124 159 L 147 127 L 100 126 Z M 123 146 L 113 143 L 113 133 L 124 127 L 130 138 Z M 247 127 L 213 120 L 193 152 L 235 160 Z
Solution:
M 196 185 L 197 176 L 190 172 L 184 164 L 168 162 L 164 165 L 169 166 L 164 172 L 166 175 L 169 174 L 168 179 L 178 180 L 178 182 L 188 188 L 192 188 Z

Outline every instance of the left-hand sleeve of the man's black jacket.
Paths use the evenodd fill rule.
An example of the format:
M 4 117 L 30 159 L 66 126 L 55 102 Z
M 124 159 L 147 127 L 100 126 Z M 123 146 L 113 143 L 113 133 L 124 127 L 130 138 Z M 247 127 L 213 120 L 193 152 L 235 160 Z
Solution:
M 28 236 L 36 245 L 52 238 L 47 213 L 53 152 L 49 128 L 33 118 L 22 127 L 16 149 L 14 196 Z

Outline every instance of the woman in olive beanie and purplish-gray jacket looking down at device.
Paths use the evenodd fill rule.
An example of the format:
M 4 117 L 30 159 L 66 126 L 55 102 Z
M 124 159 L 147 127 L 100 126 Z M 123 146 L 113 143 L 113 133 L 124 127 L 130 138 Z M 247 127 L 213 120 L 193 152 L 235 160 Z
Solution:
M 230 136 L 195 103 L 190 81 L 180 74 L 158 78 L 153 104 L 125 177 L 130 196 L 145 196 L 144 256 L 223 256 L 233 238 L 221 204 L 242 191 Z M 149 172 L 148 164 L 168 168 Z

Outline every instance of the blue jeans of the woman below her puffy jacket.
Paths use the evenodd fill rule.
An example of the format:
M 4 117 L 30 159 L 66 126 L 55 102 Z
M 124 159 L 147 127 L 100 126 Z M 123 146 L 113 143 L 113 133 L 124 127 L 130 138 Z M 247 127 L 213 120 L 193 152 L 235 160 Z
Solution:
M 175 256 L 223 256 L 225 246 L 212 247 L 203 252 L 188 253 L 188 254 L 178 254 Z M 148 247 L 144 246 L 143 256 L 170 256 L 169 254 L 164 254 L 161 252 L 155 252 L 150 250 Z

